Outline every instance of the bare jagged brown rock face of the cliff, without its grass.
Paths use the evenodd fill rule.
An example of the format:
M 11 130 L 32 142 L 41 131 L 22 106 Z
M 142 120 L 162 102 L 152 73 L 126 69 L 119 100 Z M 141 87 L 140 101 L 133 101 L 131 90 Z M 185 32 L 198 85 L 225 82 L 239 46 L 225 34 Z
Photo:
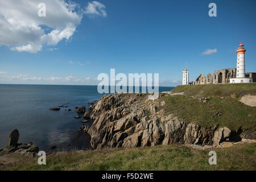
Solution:
M 167 93 L 159 97 L 170 97 Z M 148 100 L 148 94 L 105 95 L 91 105 L 84 118 L 92 119 L 92 126 L 81 127 L 90 135 L 93 149 L 108 147 L 142 147 L 159 144 L 217 145 L 241 140 L 241 128 L 201 127 L 181 121 L 175 114 L 158 109 L 166 103 Z

